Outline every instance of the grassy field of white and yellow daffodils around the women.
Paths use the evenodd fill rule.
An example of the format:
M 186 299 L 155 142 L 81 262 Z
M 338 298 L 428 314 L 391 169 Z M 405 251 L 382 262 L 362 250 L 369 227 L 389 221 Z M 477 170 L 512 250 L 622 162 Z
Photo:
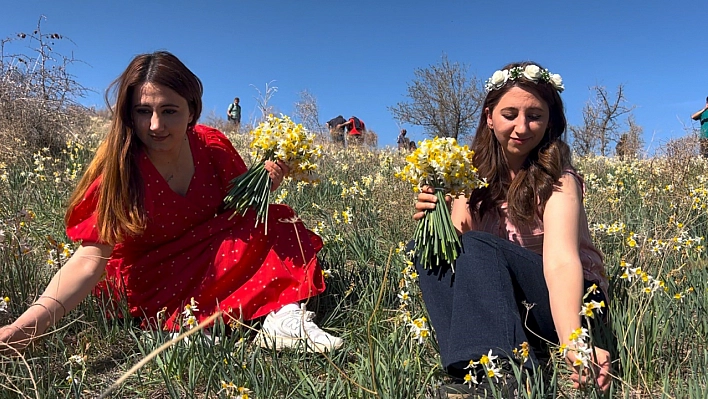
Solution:
M 63 231 L 66 200 L 101 131 L 83 132 L 61 154 L 0 164 L 0 325 L 41 293 L 75 244 Z M 247 137 L 232 140 L 250 164 Z M 587 183 L 594 241 L 611 276 L 613 398 L 708 397 L 708 162 L 685 157 L 577 159 Z M 395 150 L 327 147 L 318 184 L 285 182 L 275 201 L 322 236 L 327 291 L 308 304 L 345 345 L 331 355 L 274 352 L 251 343 L 256 323 L 218 322 L 160 352 L 111 397 L 426 398 L 444 381 L 404 243 L 414 196 L 394 177 Z M 104 316 L 94 298 L 22 358 L 0 359 L 0 398 L 98 397 L 169 340 Z M 557 351 L 554 351 L 557 353 Z M 569 388 L 557 355 L 550 381 L 524 397 L 602 397 Z M 247 396 L 246 396 L 247 395 Z

